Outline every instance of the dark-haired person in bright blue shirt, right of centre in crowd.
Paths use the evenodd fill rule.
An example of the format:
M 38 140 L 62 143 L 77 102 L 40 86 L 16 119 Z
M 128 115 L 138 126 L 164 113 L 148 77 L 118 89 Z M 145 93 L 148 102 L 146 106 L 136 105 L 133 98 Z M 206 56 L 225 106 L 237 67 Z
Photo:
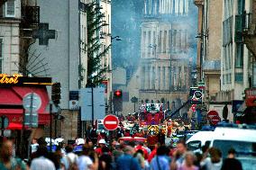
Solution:
M 157 148 L 157 155 L 151 160 L 151 170 L 169 170 L 169 149 L 165 146 Z

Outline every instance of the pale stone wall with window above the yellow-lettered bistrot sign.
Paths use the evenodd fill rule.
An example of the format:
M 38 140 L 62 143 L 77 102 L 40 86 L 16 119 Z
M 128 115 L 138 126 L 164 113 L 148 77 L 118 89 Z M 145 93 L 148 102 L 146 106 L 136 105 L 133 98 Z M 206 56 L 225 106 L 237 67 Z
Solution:
M 0 3 L 0 74 L 19 72 L 21 1 Z

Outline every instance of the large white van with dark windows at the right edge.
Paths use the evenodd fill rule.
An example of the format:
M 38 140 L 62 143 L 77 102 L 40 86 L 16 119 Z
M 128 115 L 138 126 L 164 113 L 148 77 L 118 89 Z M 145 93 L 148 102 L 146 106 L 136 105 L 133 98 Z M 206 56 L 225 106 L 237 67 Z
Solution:
M 228 150 L 234 148 L 242 154 L 256 153 L 256 126 L 224 124 L 215 128 L 214 138 L 210 147 L 219 148 L 223 157 L 227 156 Z

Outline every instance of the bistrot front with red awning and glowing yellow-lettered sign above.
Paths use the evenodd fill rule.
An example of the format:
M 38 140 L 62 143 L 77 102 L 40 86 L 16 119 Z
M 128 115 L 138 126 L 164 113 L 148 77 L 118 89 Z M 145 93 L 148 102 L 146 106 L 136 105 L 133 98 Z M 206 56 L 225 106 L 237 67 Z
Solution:
M 35 93 L 41 98 L 41 107 L 38 112 L 38 124 L 50 123 L 50 114 L 47 111 L 49 95 L 46 85 L 51 85 L 50 77 L 26 77 L 20 75 L 0 75 L 0 116 L 5 115 L 9 124 L 23 124 L 24 109 L 23 97 Z M 18 126 L 17 126 L 18 127 Z M 10 127 L 12 129 L 12 127 Z

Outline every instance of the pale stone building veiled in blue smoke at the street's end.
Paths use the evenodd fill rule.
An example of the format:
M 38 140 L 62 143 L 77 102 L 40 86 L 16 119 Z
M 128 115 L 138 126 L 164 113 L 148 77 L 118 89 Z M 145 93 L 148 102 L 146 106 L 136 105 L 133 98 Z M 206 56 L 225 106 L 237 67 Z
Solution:
M 193 1 L 145 1 L 142 20 L 140 101 L 178 107 L 187 102 L 196 57 L 197 7 Z

